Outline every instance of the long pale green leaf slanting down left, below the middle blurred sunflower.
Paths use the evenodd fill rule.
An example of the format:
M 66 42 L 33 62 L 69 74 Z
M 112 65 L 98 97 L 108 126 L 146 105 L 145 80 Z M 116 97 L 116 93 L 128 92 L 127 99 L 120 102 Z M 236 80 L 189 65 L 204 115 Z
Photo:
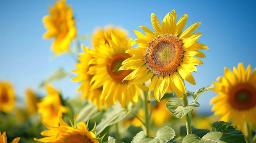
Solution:
M 99 124 L 96 126 L 96 135 L 99 135 L 106 127 L 124 119 L 124 117 L 126 117 L 129 112 L 129 110 L 121 108 L 118 106 L 118 104 L 110 107 L 104 112 L 101 122 L 99 122 Z

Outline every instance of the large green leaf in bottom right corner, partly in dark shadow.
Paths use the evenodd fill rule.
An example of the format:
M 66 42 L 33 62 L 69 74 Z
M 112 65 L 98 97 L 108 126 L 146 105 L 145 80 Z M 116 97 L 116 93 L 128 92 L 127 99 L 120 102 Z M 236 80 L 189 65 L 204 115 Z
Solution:
M 214 122 L 211 131 L 202 138 L 188 134 L 182 143 L 245 143 L 245 138 L 241 131 L 234 129 L 227 122 L 220 121 Z

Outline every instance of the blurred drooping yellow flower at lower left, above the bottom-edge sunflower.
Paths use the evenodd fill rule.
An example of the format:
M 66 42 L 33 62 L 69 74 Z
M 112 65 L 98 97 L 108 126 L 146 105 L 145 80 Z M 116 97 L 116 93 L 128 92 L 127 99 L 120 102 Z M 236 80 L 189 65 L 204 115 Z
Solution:
M 42 113 L 42 121 L 48 125 L 58 125 L 58 112 L 66 113 L 68 108 L 61 103 L 61 95 L 53 86 L 46 87 L 48 95 L 37 103 L 38 112 Z

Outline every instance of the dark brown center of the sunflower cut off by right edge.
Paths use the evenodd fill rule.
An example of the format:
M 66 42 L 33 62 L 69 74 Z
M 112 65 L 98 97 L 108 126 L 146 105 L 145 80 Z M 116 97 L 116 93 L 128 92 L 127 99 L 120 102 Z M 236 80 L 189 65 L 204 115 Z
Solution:
M 229 102 L 237 110 L 249 110 L 256 106 L 256 88 L 250 84 L 237 84 L 231 88 Z

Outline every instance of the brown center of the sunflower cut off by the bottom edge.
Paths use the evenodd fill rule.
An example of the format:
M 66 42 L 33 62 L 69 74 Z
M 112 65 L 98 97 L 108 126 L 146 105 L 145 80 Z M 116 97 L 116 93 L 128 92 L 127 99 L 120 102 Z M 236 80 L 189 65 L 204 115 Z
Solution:
M 93 143 L 87 136 L 75 134 L 64 139 L 63 143 Z

